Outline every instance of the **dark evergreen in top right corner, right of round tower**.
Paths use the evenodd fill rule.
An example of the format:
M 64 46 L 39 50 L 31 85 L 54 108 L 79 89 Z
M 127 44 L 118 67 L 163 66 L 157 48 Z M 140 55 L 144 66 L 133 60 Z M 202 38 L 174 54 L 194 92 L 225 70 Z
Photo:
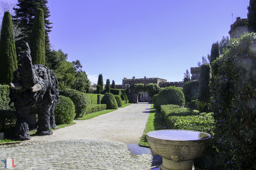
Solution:
M 256 32 L 256 0 L 250 0 L 248 9 L 248 28 L 250 32 Z

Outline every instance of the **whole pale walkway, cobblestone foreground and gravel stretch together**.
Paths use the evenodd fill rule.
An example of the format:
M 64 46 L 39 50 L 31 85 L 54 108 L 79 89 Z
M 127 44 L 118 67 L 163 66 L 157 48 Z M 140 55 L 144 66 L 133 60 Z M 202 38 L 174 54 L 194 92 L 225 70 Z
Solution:
M 134 155 L 126 144 L 139 142 L 149 109 L 147 103 L 131 104 L 90 120 L 77 120 L 50 136 L 3 145 L 0 160 L 15 159 L 12 169 L 147 169 L 160 164 L 161 157 Z M 4 166 L 0 162 L 0 169 Z

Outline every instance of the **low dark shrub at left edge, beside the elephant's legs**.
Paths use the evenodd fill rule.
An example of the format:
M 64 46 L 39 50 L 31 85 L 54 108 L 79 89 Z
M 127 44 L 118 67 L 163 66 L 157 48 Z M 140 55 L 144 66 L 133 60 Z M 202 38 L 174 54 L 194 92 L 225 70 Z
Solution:
M 0 132 L 4 132 L 9 126 L 15 124 L 17 114 L 14 110 L 1 110 L 0 109 Z

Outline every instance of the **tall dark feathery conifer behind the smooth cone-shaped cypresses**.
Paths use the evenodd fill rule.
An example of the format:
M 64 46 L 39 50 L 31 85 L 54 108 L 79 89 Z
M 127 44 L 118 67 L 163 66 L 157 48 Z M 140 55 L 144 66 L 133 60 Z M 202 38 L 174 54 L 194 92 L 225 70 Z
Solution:
M 38 8 L 44 11 L 44 26 L 45 26 L 45 60 L 48 61 L 48 55 L 50 55 L 50 40 L 48 34 L 51 32 L 51 22 L 49 21 L 50 11 L 47 7 L 47 0 L 18 0 L 17 8 L 14 8 L 15 15 L 13 16 L 13 22 L 20 28 L 21 33 L 18 34 L 15 39 L 17 59 L 20 61 L 23 57 L 22 41 L 28 42 L 32 25 L 34 22 L 35 12 Z M 47 66 L 47 64 L 46 64 Z

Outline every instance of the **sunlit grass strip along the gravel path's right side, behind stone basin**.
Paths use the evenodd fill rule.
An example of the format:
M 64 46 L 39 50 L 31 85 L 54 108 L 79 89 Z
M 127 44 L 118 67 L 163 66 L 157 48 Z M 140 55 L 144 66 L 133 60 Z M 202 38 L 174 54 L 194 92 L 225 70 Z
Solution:
M 153 108 L 154 104 L 151 104 L 152 110 L 149 112 L 149 118 L 146 124 L 146 128 L 144 130 L 143 136 L 140 139 L 139 145 L 140 146 L 149 146 L 146 134 L 150 131 L 156 131 L 156 130 L 163 130 L 168 129 L 167 125 L 165 124 L 164 120 L 161 118 L 161 111 L 155 110 Z

